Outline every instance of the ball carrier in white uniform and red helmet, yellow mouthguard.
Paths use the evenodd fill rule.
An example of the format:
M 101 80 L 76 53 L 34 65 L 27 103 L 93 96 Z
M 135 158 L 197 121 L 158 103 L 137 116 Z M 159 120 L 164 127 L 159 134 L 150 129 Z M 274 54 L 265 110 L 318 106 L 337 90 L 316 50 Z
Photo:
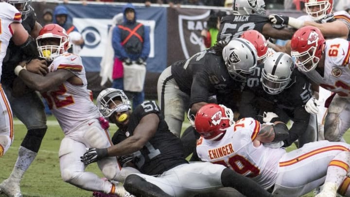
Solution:
M 40 75 L 28 72 L 22 66 L 17 66 L 15 73 L 29 88 L 41 92 L 65 134 L 59 149 L 62 179 L 88 191 L 124 195 L 123 188 L 91 172 L 85 172 L 85 165 L 79 158 L 86 148 L 106 148 L 111 145 L 108 122 L 102 118 L 92 102 L 92 92 L 87 89 L 81 57 L 67 52 L 69 37 L 57 24 L 44 26 L 36 42 L 39 56 L 46 59 L 49 65 L 48 73 Z M 26 68 L 36 66 L 29 62 Z M 45 72 L 44 68 L 40 69 Z M 124 179 L 115 157 L 99 161 L 98 166 L 108 180 Z

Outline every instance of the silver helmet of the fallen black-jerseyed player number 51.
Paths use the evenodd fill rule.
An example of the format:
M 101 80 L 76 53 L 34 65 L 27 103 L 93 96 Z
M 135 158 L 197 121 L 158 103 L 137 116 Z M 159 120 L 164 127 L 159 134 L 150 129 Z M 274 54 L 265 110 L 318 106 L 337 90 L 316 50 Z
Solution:
M 116 97 L 119 97 L 118 99 Z M 114 100 L 120 100 L 122 101 L 121 104 L 116 105 L 114 103 Z M 97 107 L 99 111 L 102 113 L 102 116 L 104 118 L 108 118 L 111 116 L 114 112 L 123 112 L 131 109 L 130 101 L 123 92 L 123 90 L 118 90 L 114 88 L 107 88 L 105 90 L 102 90 L 99 95 L 97 96 Z M 113 103 L 114 108 L 110 108 L 109 104 Z

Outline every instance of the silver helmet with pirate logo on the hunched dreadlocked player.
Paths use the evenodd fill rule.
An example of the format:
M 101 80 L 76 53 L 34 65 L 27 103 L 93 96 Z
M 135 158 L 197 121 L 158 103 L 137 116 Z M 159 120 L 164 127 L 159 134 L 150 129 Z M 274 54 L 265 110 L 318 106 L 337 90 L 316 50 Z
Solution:
M 254 45 L 244 38 L 228 42 L 222 52 L 227 71 L 236 81 L 245 81 L 246 75 L 257 66 L 257 51 Z

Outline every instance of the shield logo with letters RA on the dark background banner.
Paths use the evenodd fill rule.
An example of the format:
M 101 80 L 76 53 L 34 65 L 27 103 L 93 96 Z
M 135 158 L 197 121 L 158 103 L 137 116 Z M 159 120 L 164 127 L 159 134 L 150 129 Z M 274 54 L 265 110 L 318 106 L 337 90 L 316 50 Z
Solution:
M 200 35 L 203 28 L 206 26 L 207 18 L 210 15 L 210 10 L 206 11 L 202 15 L 178 16 L 178 29 L 181 42 L 181 48 L 188 59 L 193 54 L 206 49 L 203 44 L 202 37 Z

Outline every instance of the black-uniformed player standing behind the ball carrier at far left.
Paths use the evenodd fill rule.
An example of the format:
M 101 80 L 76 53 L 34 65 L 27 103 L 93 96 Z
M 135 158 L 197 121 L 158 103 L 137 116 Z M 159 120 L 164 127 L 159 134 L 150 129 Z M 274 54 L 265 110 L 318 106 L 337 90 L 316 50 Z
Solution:
M 33 38 L 37 37 L 42 27 L 38 22 L 36 22 L 36 15 L 31 7 L 31 0 L 6 1 L 14 5 L 21 12 L 22 25 L 27 32 Z M 25 55 L 23 53 L 23 49 L 19 48 L 12 41 L 10 41 L 6 56 L 2 63 L 2 88 L 10 102 L 13 113 L 28 129 L 27 134 L 19 147 L 18 159 L 11 175 L 8 179 L 5 179 L 0 183 L 1 192 L 7 194 L 8 196 L 21 195 L 19 182 L 32 161 L 34 161 L 47 129 L 46 115 L 41 98 L 34 90 L 24 88 L 26 86 L 20 82 L 19 78 L 17 78 L 14 73 L 14 68 L 19 64 L 19 62 L 23 60 L 30 60 L 37 54 L 34 39 L 32 40 L 32 43 L 27 43 L 27 48 L 29 46 L 32 47 L 26 50 L 31 51 L 33 54 L 32 56 Z M 38 64 L 46 67 L 45 60 L 40 62 L 40 60 L 35 59 L 33 61 L 37 61 Z

